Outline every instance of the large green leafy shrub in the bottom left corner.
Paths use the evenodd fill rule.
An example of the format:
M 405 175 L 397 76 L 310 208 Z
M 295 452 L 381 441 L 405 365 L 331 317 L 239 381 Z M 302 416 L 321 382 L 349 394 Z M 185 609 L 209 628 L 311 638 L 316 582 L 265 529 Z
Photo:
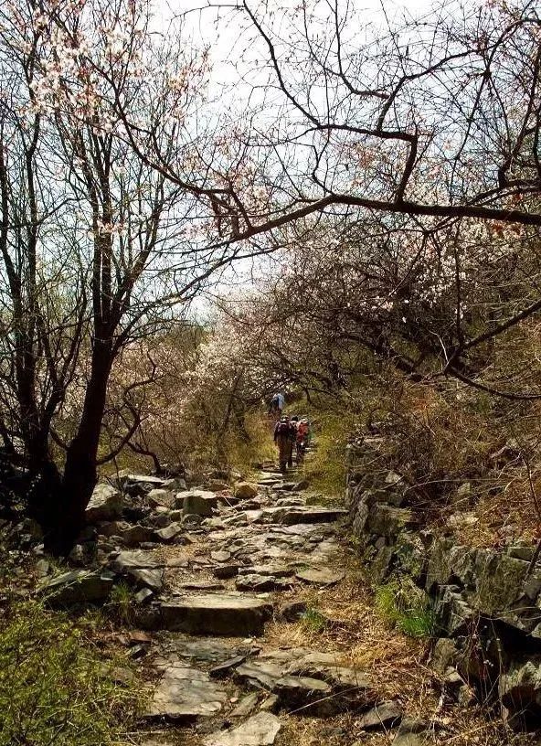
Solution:
M 9 607 L 0 625 L 0 746 L 120 744 L 133 692 L 84 630 L 36 602 Z

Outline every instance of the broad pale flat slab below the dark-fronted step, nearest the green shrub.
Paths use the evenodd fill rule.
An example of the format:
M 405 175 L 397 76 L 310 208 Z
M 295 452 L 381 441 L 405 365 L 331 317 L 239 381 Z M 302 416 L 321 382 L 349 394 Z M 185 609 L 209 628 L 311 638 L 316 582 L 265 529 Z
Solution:
M 228 698 L 204 671 L 189 666 L 170 666 L 154 689 L 145 718 L 194 720 L 216 715 Z

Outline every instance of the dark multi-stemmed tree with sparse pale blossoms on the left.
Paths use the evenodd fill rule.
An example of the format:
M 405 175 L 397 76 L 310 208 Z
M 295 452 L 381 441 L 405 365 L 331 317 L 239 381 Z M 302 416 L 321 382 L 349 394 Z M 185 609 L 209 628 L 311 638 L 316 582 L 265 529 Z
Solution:
M 196 126 L 207 137 L 190 122 L 205 55 L 174 35 L 154 42 L 145 2 L 27 0 L 1 13 L 2 436 L 23 450 L 48 548 L 65 552 L 98 464 L 138 426 L 126 397 L 124 435 L 101 453 L 115 359 L 186 313 L 239 250 L 206 242 L 205 174 L 189 154 Z M 111 102 L 130 112 L 130 133 Z M 151 146 L 182 164 L 182 185 L 142 157 Z

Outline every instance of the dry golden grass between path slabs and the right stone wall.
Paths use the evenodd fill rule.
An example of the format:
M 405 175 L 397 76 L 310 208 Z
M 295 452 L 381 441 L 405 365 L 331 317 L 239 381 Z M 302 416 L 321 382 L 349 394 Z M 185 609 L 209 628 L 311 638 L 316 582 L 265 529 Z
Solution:
M 369 678 L 380 700 L 395 699 L 405 716 L 430 724 L 433 743 L 449 746 L 530 746 L 535 736 L 514 734 L 498 714 L 481 707 L 464 709 L 440 701 L 441 682 L 430 669 L 430 641 L 413 639 L 389 628 L 377 613 L 366 578 L 353 550 L 334 560 L 346 570 L 337 586 L 323 590 L 297 589 L 302 600 L 328 620 L 320 627 L 310 621 L 271 623 L 262 643 L 266 649 L 306 647 L 334 652 L 336 664 L 350 666 Z M 332 719 L 282 717 L 276 746 L 359 746 L 392 743 L 396 730 L 366 732 L 355 712 Z

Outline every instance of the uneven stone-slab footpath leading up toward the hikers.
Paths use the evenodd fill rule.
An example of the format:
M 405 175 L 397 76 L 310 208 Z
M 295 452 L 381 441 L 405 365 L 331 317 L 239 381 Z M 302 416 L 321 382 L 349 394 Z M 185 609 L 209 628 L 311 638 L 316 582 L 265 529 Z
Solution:
M 399 724 L 397 703 L 382 701 L 343 653 L 288 640 L 288 624 L 316 614 L 306 591 L 345 580 L 337 562 L 345 510 L 310 504 L 303 486 L 268 471 L 235 497 L 180 493 L 181 543 L 113 559 L 149 595 L 137 623 L 150 632 L 132 636 L 149 681 L 135 743 L 302 746 L 326 732 L 325 742 L 352 744 L 347 714 L 358 732 Z M 276 628 L 281 634 L 269 634 Z M 401 728 L 397 746 L 425 742 L 407 722 Z

